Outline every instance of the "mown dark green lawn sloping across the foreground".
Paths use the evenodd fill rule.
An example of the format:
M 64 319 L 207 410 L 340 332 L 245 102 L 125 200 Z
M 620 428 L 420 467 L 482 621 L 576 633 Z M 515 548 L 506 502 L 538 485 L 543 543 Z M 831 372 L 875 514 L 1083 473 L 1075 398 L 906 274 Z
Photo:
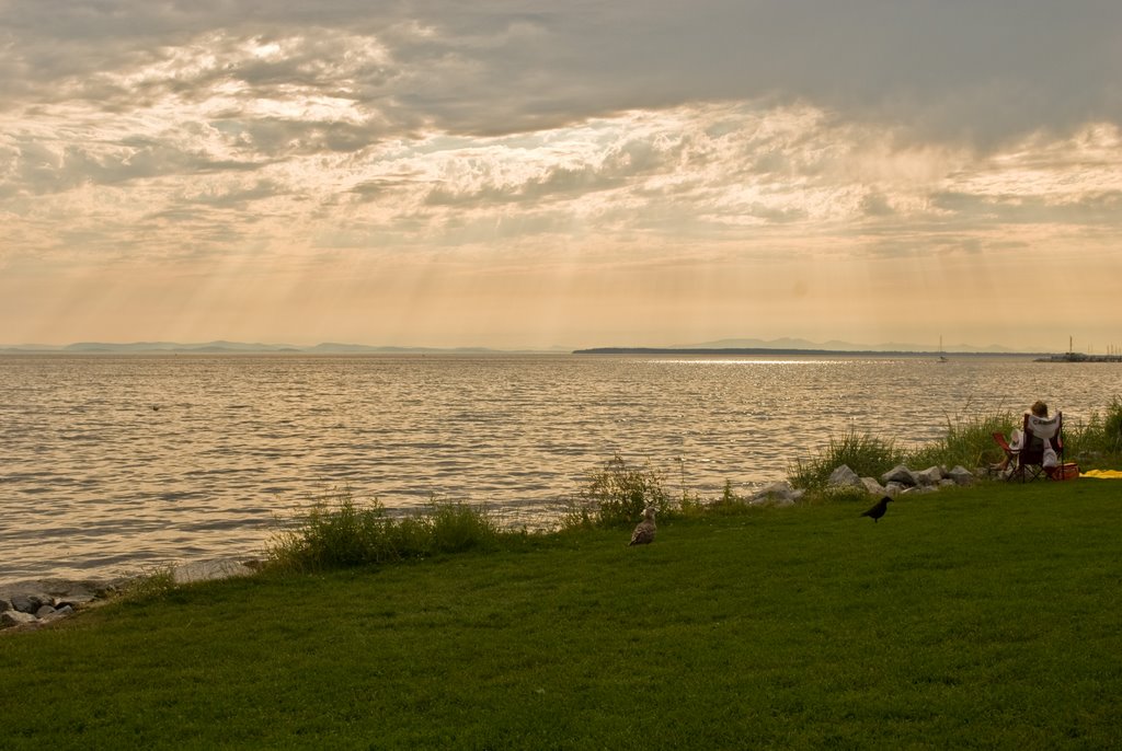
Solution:
M 1122 482 L 753 509 L 0 634 L 4 748 L 1122 745 Z

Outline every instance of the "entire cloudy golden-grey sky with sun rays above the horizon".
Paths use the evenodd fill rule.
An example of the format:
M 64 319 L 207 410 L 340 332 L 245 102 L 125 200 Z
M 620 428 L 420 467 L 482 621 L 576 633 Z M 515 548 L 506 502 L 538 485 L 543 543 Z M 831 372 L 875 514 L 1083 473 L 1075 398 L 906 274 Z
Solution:
M 0 343 L 1122 349 L 1118 0 L 0 0 Z

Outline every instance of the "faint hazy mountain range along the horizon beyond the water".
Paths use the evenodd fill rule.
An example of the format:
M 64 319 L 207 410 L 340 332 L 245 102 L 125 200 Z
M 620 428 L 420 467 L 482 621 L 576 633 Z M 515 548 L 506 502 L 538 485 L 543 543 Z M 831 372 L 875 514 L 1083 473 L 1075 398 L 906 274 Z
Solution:
M 668 352 L 668 351 L 725 351 L 725 350 L 764 350 L 764 351 L 807 351 L 807 352 L 936 352 L 931 345 L 910 344 L 903 342 L 886 342 L 883 344 L 855 344 L 853 342 L 810 342 L 804 339 L 723 339 L 714 342 L 701 342 L 697 344 L 672 344 L 657 347 L 634 347 L 634 346 L 610 346 L 596 347 L 590 350 L 578 350 L 581 353 L 589 352 Z M 536 350 L 536 352 L 570 352 L 568 347 L 554 347 L 551 350 Z M 947 354 L 1043 354 L 1042 352 L 1023 352 L 1011 350 L 1006 346 L 991 344 L 987 346 L 973 346 L 969 344 L 954 344 L 945 349 Z M 426 346 L 371 346 L 368 344 L 341 344 L 338 342 L 323 342 L 314 346 L 296 346 L 292 344 L 261 344 L 248 342 L 205 342 L 199 344 L 182 344 L 178 342 L 79 342 L 66 345 L 48 344 L 18 344 L 0 345 L 0 353 L 8 354 L 34 354 L 34 353 L 62 353 L 62 354 L 144 354 L 144 353 L 168 353 L 168 354 L 502 354 L 512 352 L 534 352 L 533 350 L 495 350 L 479 346 L 465 347 L 426 347 Z

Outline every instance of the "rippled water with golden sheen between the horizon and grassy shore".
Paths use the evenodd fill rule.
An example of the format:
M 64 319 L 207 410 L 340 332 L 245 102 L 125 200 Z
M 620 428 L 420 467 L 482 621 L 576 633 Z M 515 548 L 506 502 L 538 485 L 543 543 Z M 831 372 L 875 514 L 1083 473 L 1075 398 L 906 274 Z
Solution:
M 258 555 L 333 488 L 517 519 L 618 453 L 714 498 L 850 427 L 921 443 L 1119 393 L 1116 365 L 1019 359 L 0 356 L 0 582 Z

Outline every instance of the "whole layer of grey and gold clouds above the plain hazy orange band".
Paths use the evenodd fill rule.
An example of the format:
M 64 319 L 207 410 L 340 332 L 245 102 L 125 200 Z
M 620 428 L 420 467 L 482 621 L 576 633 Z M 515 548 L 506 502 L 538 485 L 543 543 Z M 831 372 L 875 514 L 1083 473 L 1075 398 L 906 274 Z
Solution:
M 1104 257 L 1120 28 L 1105 0 L 0 0 L 0 265 L 638 295 Z

